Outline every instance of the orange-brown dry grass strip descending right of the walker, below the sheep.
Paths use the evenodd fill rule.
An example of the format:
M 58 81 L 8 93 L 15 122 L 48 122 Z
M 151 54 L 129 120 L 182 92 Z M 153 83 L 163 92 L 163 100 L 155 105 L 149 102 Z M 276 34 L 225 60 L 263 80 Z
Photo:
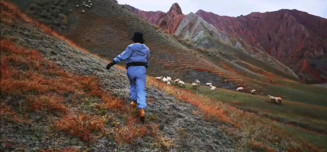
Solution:
M 242 148 L 259 148 L 266 151 L 278 151 L 278 149 L 296 149 L 298 152 L 323 151 L 323 149 L 315 147 L 309 144 L 308 141 L 288 132 L 280 125 L 255 114 L 238 110 L 230 105 L 187 90 L 166 86 L 152 77 L 149 78 L 148 85 L 157 87 L 174 95 L 179 100 L 187 101 L 200 108 L 205 113 L 207 120 L 219 120 L 237 128 L 235 130 L 237 133 L 232 133 L 231 130 L 226 131 L 231 134 L 245 135 L 247 140 L 240 142 Z

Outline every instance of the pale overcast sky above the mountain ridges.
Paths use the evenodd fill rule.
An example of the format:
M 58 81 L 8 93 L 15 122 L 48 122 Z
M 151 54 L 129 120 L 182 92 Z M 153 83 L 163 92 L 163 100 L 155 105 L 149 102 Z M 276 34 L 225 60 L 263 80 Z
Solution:
M 119 4 L 128 4 L 144 11 L 163 12 L 167 12 L 176 2 L 184 14 L 202 9 L 218 15 L 236 17 L 251 12 L 297 9 L 327 18 L 327 0 L 118 0 Z

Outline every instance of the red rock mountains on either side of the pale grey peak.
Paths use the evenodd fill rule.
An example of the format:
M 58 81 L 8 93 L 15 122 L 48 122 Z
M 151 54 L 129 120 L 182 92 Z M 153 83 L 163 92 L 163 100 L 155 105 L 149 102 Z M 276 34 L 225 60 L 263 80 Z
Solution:
M 167 13 L 125 6 L 171 33 L 175 33 L 185 17 L 177 3 Z M 267 52 L 305 82 L 327 82 L 327 19 L 296 9 L 252 12 L 238 17 L 220 16 L 204 10 L 198 10 L 195 14 L 217 29 Z

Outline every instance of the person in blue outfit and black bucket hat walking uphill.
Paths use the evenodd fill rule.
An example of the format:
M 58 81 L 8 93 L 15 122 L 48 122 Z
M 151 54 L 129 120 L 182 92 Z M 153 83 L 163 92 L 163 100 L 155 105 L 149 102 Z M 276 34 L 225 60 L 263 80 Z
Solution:
M 145 121 L 146 110 L 146 68 L 149 66 L 150 50 L 144 44 L 143 33 L 135 32 L 130 38 L 134 43 L 127 46 L 126 50 L 110 62 L 106 69 L 110 69 L 122 60 L 127 60 L 127 76 L 130 82 L 130 94 L 133 102 L 132 107 L 141 110 L 140 120 Z

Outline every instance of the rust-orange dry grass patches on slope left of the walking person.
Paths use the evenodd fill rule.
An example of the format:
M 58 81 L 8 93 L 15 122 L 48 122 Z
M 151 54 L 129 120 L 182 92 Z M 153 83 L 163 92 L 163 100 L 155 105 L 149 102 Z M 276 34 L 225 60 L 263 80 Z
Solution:
M 54 130 L 93 142 L 101 136 L 108 136 L 108 117 L 74 110 L 81 104 L 82 97 L 101 99 L 103 103 L 95 107 L 97 109 L 115 110 L 117 113 L 130 109 L 102 88 L 96 77 L 69 74 L 47 61 L 40 52 L 27 50 L 10 40 L 1 40 L 1 121 L 31 123 L 30 112 L 50 114 L 53 118 L 60 117 L 53 122 Z M 70 93 L 73 95 L 68 99 L 66 95 Z M 17 101 L 22 102 L 16 104 Z M 130 119 L 127 126 L 116 126 L 114 137 L 117 143 L 134 142 L 149 135 L 161 137 L 158 129 L 139 126 L 136 120 Z

